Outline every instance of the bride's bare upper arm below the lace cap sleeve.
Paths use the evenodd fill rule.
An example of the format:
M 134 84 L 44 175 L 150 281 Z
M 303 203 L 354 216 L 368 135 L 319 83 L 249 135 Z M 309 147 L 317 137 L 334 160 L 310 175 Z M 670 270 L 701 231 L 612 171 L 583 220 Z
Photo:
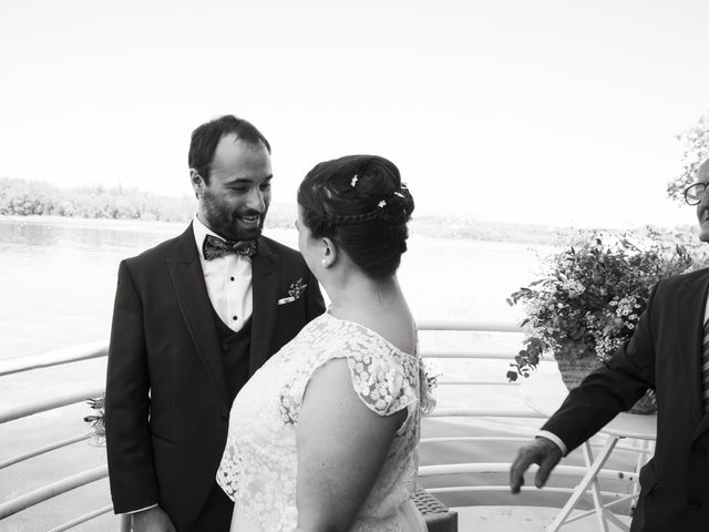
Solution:
M 364 503 L 405 409 L 378 416 L 352 388 L 346 359 L 319 368 L 296 426 L 299 532 L 346 532 Z

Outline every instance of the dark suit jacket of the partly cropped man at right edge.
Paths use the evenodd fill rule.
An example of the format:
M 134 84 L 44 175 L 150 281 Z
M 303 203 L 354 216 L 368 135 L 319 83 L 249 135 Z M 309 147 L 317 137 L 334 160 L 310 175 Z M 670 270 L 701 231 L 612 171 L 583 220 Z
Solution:
M 701 402 L 708 289 L 709 268 L 660 282 L 633 338 L 543 427 L 571 450 L 656 390 L 657 443 L 640 471 L 633 532 L 709 530 L 709 415 Z

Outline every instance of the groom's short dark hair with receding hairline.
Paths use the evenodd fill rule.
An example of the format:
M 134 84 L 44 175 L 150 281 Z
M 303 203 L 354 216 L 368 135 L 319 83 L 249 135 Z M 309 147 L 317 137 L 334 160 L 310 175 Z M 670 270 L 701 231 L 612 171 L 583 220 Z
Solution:
M 187 163 L 191 168 L 194 168 L 202 176 L 206 184 L 209 184 L 212 161 L 214 160 L 214 152 L 217 150 L 217 144 L 219 144 L 223 136 L 230 134 L 236 135 L 242 141 L 247 144 L 253 144 L 254 146 L 260 146 L 263 144 L 268 153 L 270 153 L 270 144 L 266 137 L 254 124 L 244 119 L 239 119 L 233 114 L 225 114 L 206 124 L 202 124 L 192 132 Z

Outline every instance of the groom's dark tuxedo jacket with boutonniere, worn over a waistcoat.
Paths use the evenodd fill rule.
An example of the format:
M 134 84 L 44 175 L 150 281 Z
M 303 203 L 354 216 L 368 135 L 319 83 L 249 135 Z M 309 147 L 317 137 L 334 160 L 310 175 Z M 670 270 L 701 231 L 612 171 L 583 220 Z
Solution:
M 251 280 L 249 375 L 325 309 L 300 254 L 269 238 Z M 307 287 L 279 304 L 294 284 Z M 214 315 L 192 225 L 121 263 L 105 401 L 116 513 L 158 503 L 184 530 L 215 484 L 232 405 Z

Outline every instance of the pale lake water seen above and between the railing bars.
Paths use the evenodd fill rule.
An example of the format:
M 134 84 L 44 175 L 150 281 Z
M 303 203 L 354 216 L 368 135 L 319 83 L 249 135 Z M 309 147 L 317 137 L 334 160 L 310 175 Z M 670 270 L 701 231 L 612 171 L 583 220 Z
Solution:
M 107 340 L 119 262 L 182 231 L 184 226 L 175 224 L 0 217 L 0 359 Z M 294 229 L 266 234 L 296 246 Z M 399 278 L 418 319 L 515 323 L 521 310 L 507 306 L 505 298 L 535 277 L 540 254 L 548 250 L 412 235 Z M 512 357 L 520 340 L 518 334 L 422 332 L 421 347 L 508 350 Z M 507 361 L 440 360 L 430 366 L 443 379 L 504 381 Z M 105 358 L 2 377 L 0 408 L 96 388 L 104 376 Z M 523 408 L 515 391 L 452 386 L 438 389 L 436 398 L 444 408 Z M 89 407 L 79 403 L 0 426 L 0 461 L 85 432 L 88 413 Z M 446 422 L 453 428 L 461 424 L 458 419 Z M 477 430 L 489 430 L 505 422 L 476 419 L 474 423 Z M 470 423 L 464 430 L 472 430 Z M 446 459 L 460 454 L 460 461 L 469 461 L 467 446 L 459 447 L 460 452 L 446 448 Z M 421 463 L 441 463 L 441 452 L 423 449 Z M 504 461 L 514 449 L 485 453 L 487 461 Z M 0 502 L 102 464 L 105 450 L 82 441 L 6 468 L 0 470 Z M 0 521 L 0 532 L 47 530 L 109 502 L 103 479 Z M 78 532 L 112 530 L 117 530 L 117 522 L 110 514 L 76 528 Z

